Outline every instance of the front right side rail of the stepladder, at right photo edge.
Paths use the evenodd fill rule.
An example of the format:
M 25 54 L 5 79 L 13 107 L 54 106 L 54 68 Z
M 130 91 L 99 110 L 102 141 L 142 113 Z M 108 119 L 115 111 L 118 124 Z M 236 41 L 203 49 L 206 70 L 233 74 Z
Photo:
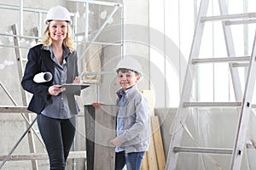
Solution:
M 238 129 L 236 134 L 236 141 L 233 150 L 230 169 L 238 170 L 241 167 L 241 158 L 245 148 L 245 141 L 247 137 L 247 125 L 252 109 L 253 89 L 256 79 L 256 31 L 253 42 L 253 51 L 250 65 L 247 72 L 247 81 L 244 89 L 244 96 L 242 99 L 241 113 L 239 117 Z

